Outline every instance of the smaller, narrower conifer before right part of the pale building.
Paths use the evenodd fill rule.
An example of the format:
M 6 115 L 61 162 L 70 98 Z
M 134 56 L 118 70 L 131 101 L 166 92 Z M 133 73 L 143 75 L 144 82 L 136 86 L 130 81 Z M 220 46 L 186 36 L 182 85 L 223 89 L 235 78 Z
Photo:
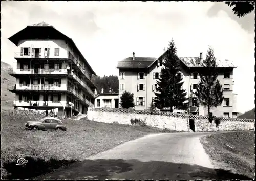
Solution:
M 222 86 L 217 79 L 218 70 L 214 51 L 209 48 L 206 59 L 202 63 L 203 71 L 200 73 L 200 82 L 197 86 L 197 96 L 199 103 L 210 109 L 222 104 L 224 99 Z

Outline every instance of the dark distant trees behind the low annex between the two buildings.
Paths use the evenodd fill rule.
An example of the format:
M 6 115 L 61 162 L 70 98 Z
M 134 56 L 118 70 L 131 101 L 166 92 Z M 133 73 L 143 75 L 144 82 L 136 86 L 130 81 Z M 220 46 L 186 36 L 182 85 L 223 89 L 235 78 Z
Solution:
M 101 93 L 101 89 L 104 89 L 104 93 L 109 93 L 110 88 L 113 89 L 113 92 L 118 93 L 118 77 L 114 75 L 110 76 L 95 76 L 92 78 L 93 84 L 98 89 L 98 94 Z

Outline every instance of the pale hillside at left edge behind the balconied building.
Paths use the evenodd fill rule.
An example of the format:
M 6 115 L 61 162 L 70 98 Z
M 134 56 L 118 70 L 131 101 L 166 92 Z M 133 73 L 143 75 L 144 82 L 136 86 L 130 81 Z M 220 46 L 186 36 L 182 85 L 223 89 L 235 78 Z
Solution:
M 14 84 L 16 78 L 8 74 L 11 65 L 1 61 L 1 109 L 10 110 L 12 102 L 15 100 L 15 94 L 7 90 L 8 84 Z

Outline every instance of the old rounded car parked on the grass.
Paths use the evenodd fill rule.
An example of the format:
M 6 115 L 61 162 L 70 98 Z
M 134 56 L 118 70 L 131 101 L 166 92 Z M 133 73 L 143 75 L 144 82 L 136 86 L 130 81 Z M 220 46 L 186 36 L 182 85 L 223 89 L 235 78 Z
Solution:
M 62 130 L 67 128 L 63 125 L 60 119 L 54 117 L 41 118 L 39 121 L 28 121 L 25 129 L 29 130 Z

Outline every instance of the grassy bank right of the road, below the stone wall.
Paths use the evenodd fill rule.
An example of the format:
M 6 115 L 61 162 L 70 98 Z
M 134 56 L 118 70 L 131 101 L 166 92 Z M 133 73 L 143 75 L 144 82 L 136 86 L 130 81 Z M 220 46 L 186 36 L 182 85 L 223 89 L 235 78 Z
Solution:
M 254 178 L 254 131 L 239 131 L 201 138 L 206 153 L 224 169 Z M 224 165 L 220 165 L 224 162 Z

